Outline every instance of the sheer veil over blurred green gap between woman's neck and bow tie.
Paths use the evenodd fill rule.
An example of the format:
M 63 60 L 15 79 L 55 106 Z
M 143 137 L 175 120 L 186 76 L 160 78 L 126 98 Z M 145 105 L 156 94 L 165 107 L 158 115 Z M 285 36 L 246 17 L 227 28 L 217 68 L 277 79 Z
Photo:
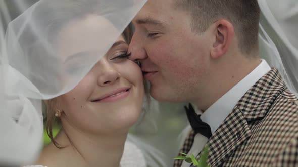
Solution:
M 188 123 L 183 106 L 151 99 L 144 116 L 132 128 L 128 140 L 143 152 L 148 167 L 168 167 L 180 149 L 181 131 Z

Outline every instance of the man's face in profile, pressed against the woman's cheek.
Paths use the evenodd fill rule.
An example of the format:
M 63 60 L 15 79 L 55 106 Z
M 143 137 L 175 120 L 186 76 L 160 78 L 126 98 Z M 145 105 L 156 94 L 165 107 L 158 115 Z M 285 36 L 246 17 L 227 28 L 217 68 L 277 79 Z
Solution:
M 141 63 L 157 100 L 192 101 L 208 84 L 212 33 L 193 31 L 191 19 L 174 0 L 149 0 L 133 19 L 131 59 Z

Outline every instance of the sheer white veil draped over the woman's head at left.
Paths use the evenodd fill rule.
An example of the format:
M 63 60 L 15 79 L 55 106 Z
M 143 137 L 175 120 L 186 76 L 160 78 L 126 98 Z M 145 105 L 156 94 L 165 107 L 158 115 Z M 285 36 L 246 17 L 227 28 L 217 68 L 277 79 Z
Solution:
M 11 9 L 7 6 L 12 1 L 0 2 L 0 165 L 30 164 L 36 160 L 42 149 L 42 100 L 72 90 L 146 2 L 40 0 L 29 9 L 21 8 L 26 1 L 15 1 L 20 8 L 13 10 L 25 12 L 14 20 L 10 19 Z M 94 54 L 82 51 L 63 55 L 57 51 L 59 30 L 88 15 L 96 15 L 102 23 L 98 28 L 101 33 L 94 33 L 101 42 L 94 44 L 94 50 L 88 50 Z M 73 40 L 84 42 L 76 37 Z

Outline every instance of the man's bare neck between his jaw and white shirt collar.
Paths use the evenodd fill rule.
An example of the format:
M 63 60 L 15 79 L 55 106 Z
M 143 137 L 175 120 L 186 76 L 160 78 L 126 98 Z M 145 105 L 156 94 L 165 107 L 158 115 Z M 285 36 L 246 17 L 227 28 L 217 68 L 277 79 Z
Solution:
M 206 111 L 260 63 L 259 58 L 246 58 L 243 55 L 222 58 L 213 62 L 210 77 L 208 77 L 205 86 L 201 90 L 197 90 L 198 98 L 193 103 L 202 111 Z

